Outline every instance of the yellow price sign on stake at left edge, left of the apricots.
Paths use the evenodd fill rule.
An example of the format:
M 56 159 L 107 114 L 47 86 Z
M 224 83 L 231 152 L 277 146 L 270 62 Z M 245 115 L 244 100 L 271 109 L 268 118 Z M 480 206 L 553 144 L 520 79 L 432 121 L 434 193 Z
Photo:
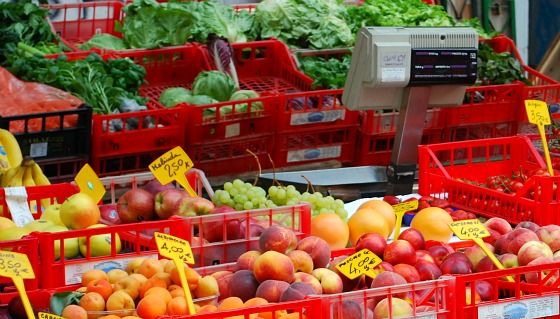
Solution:
M 0 252 L 0 276 L 12 278 L 21 297 L 27 318 L 35 319 L 35 313 L 33 313 L 23 283 L 24 279 L 35 278 L 33 267 L 31 267 L 27 255 L 8 251 Z

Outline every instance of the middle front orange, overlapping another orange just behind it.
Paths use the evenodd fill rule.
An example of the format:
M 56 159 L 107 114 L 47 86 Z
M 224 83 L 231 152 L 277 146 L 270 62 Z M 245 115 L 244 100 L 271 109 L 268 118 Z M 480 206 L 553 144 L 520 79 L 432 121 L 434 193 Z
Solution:
M 392 232 L 383 215 L 372 208 L 357 210 L 348 219 L 348 229 L 350 229 L 350 242 L 352 246 L 356 246 L 356 242 L 363 234 L 378 233 L 384 238 L 388 238 Z

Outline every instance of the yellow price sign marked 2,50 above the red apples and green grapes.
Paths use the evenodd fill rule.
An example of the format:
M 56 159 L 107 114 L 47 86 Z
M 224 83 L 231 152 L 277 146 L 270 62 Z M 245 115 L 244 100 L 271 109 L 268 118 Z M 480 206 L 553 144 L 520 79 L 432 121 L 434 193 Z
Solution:
M 185 176 L 185 173 L 193 166 L 194 164 L 187 153 L 181 146 L 177 146 L 153 161 L 150 164 L 150 171 L 163 185 L 177 181 L 191 196 L 197 197 Z

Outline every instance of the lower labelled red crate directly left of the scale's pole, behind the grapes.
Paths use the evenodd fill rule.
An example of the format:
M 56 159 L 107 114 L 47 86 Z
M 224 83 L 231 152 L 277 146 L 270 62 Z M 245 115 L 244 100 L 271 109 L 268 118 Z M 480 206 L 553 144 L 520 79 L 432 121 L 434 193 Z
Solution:
M 276 135 L 274 165 L 288 167 L 315 162 L 354 160 L 358 125 L 334 126 Z

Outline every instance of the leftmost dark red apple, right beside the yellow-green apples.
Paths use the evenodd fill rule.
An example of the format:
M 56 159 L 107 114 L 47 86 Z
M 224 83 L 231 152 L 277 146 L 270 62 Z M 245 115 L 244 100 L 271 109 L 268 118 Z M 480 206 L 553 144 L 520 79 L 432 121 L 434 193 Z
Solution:
M 154 196 L 141 188 L 128 190 L 117 201 L 117 213 L 123 224 L 154 220 Z

